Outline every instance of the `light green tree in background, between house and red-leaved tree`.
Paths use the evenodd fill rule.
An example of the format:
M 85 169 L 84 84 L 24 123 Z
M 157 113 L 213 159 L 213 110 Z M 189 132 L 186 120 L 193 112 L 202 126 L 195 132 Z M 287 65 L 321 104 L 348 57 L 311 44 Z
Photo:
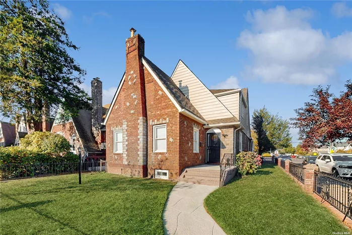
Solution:
M 263 129 L 274 149 L 291 146 L 292 137 L 289 121 L 284 120 L 278 114 L 271 114 L 265 106 L 259 110 L 254 110 L 253 117 L 258 115 L 263 118 Z

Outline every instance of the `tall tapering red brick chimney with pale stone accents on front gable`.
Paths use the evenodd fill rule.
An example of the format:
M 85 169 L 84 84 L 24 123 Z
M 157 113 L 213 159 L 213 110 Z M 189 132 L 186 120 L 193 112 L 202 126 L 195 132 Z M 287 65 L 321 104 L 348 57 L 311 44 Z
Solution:
M 124 122 L 128 138 L 124 155 L 124 164 L 133 165 L 134 174 L 147 177 L 147 108 L 144 66 L 144 39 L 139 34 L 126 39 L 126 73 L 124 97 Z

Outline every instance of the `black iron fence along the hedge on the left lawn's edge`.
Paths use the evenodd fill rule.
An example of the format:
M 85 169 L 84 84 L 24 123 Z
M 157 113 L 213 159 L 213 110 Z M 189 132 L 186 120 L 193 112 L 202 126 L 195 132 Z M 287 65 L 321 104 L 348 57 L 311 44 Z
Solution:
M 79 162 L 2 164 L 0 165 L 0 181 L 75 174 L 78 173 L 79 165 Z M 82 163 L 83 173 L 106 171 L 106 169 L 106 161 L 86 161 Z

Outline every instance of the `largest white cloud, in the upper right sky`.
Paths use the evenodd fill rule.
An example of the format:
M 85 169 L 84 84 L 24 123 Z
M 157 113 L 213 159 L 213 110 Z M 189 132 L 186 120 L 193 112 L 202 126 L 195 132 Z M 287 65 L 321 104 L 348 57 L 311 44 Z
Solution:
M 245 18 L 252 29 L 237 38 L 238 47 L 249 49 L 254 58 L 244 76 L 308 85 L 336 77 L 336 68 L 352 61 L 352 32 L 330 38 L 311 27 L 313 15 L 311 9 L 290 11 L 283 6 L 249 11 Z

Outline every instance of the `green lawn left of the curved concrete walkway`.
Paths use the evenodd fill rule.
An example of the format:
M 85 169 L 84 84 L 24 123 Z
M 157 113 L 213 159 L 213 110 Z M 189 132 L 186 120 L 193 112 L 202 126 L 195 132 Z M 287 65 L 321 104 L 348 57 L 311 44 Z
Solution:
M 0 183 L 0 233 L 163 234 L 174 183 L 108 173 Z

